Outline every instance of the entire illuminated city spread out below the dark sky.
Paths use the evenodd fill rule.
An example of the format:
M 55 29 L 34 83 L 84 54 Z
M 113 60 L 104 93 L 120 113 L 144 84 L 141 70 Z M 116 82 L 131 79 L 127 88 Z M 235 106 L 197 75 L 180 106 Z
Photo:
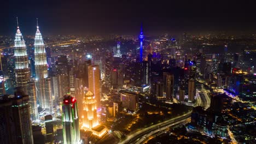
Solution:
M 0 143 L 256 143 L 253 31 L 49 34 L 31 19 L 33 35 L 16 16 L 0 33 Z

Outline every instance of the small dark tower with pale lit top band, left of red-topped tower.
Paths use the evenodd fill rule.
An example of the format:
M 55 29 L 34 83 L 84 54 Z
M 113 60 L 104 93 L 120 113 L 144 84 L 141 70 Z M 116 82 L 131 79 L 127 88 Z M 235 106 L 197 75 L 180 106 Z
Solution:
M 46 142 L 53 141 L 54 129 L 53 129 L 53 116 L 44 116 L 45 129 L 46 129 Z

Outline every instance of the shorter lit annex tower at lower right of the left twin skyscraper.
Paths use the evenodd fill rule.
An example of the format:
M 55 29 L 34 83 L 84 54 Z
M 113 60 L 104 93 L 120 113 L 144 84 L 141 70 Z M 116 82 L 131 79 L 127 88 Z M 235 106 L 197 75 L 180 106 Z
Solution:
M 37 95 L 36 95 L 36 85 L 33 81 L 28 82 L 27 86 L 27 94 L 30 97 L 30 115 L 32 122 L 36 122 L 38 117 L 38 109 L 37 109 Z

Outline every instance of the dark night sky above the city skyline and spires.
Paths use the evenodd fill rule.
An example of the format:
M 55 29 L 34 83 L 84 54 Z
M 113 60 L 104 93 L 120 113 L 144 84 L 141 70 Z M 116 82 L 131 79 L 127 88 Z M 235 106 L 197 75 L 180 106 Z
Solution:
M 224 1 L 224 0 L 223 0 Z M 255 2 L 247 1 L 1 1 L 0 34 L 138 34 L 256 32 Z

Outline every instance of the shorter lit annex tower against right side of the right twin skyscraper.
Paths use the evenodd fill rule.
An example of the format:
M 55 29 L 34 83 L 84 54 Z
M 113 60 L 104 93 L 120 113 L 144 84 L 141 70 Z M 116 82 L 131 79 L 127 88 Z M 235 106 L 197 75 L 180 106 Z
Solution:
M 52 98 L 52 91 L 51 91 L 51 78 L 46 77 L 44 78 L 45 84 L 45 111 L 46 113 L 53 114 L 53 98 Z

